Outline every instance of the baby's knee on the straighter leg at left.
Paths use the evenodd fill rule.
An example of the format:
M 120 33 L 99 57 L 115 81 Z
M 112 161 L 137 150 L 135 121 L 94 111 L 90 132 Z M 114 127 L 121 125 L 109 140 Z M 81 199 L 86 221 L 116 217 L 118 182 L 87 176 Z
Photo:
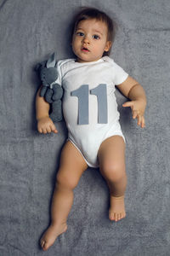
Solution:
M 75 189 L 77 187 L 77 180 L 62 173 L 56 176 L 56 187 L 65 189 Z

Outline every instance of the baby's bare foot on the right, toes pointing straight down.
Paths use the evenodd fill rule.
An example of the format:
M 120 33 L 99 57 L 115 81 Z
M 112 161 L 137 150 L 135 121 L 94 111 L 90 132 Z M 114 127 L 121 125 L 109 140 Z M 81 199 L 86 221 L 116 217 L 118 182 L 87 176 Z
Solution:
M 122 218 L 125 218 L 125 203 L 124 203 L 124 195 L 116 197 L 112 196 L 110 198 L 110 209 L 109 209 L 109 218 L 111 220 L 118 221 Z

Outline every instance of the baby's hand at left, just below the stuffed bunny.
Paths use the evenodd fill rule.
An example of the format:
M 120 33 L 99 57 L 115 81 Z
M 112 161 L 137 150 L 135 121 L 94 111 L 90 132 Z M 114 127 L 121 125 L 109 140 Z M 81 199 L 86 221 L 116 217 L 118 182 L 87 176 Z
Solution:
M 37 120 L 37 131 L 44 134 L 50 133 L 52 131 L 54 133 L 58 132 L 54 125 L 54 122 L 49 117 L 43 117 Z

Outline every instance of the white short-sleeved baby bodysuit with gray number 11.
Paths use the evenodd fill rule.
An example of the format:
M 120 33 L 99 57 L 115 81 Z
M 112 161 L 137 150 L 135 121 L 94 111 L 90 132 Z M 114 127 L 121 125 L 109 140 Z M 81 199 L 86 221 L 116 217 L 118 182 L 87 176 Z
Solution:
M 108 56 L 81 63 L 75 59 L 61 60 L 57 68 L 56 83 L 64 89 L 68 140 L 81 152 L 88 166 L 98 167 L 100 144 L 107 137 L 123 137 L 115 85 L 122 84 L 128 74 Z

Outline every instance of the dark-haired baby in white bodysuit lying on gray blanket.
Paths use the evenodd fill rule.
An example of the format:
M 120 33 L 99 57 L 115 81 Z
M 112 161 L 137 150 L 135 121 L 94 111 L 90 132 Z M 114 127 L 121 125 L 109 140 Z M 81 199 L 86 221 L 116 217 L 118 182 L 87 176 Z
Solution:
M 73 203 L 73 190 L 88 166 L 97 168 L 110 189 L 109 218 L 125 218 L 124 195 L 125 138 L 119 124 L 115 85 L 129 98 L 133 119 L 144 127 L 146 96 L 142 86 L 108 56 L 114 37 L 114 25 L 98 9 L 82 9 L 74 23 L 72 50 L 76 59 L 58 61 L 56 80 L 64 89 L 63 113 L 68 139 L 61 152 L 56 177 L 51 224 L 41 239 L 45 251 L 67 230 L 67 218 Z M 49 104 L 37 92 L 37 130 L 57 133 L 49 118 Z

